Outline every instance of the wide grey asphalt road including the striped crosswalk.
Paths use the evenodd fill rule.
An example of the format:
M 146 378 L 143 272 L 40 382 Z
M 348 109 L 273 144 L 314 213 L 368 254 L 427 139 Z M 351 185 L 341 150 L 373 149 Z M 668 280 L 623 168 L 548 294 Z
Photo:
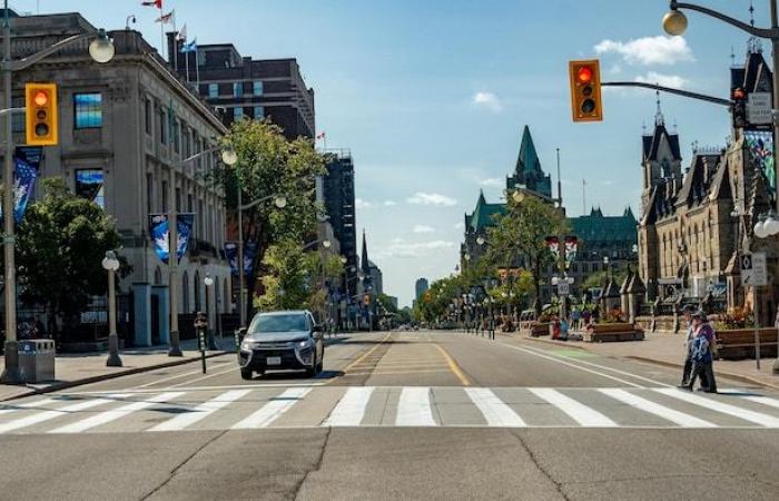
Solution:
M 640 346 L 640 344 L 637 344 Z M 0 499 L 779 499 L 779 394 L 499 336 L 334 340 L 6 403 Z

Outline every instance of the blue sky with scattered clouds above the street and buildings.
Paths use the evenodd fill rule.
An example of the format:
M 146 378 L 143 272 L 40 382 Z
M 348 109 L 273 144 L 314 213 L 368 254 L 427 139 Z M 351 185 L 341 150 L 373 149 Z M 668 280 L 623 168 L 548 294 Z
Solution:
M 132 27 L 159 46 L 158 11 L 140 0 L 16 0 L 20 11 L 79 11 L 106 29 Z M 665 37 L 663 0 L 165 0 L 199 43 L 233 42 L 255 59 L 297 58 L 316 92 L 317 130 L 355 161 L 357 226 L 385 293 L 410 305 L 414 282 L 454 272 L 463 215 L 479 190 L 499 202 L 530 126 L 541 166 L 570 216 L 600 206 L 638 214 L 642 126 L 651 90 L 605 89 L 604 120 L 571 121 L 568 61 L 599 58 L 604 81 L 649 81 L 727 98 L 731 53 L 748 36 L 689 12 L 683 38 Z M 700 0 L 745 21 L 748 0 Z M 757 26 L 768 1 L 756 2 Z M 770 53 L 767 47 L 767 56 Z M 661 95 L 683 163 L 691 145 L 721 147 L 726 108 Z M 324 147 L 322 143 L 319 147 Z M 583 206 L 582 179 L 586 179 Z

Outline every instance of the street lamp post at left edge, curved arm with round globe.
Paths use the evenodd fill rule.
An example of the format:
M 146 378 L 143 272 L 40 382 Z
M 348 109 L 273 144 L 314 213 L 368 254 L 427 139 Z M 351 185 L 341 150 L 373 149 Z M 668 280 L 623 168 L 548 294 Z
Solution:
M 6 367 L 0 375 L 0 381 L 8 384 L 17 384 L 21 381 L 19 374 L 19 354 L 17 344 L 17 267 L 16 267 L 16 236 L 13 220 L 13 97 L 12 78 L 14 71 L 24 70 L 43 58 L 51 56 L 65 47 L 76 42 L 93 38 L 89 43 L 89 56 L 99 63 L 108 62 L 114 59 L 114 43 L 106 35 L 106 30 L 98 30 L 97 33 L 73 35 L 57 43 L 40 50 L 31 56 L 20 60 L 11 59 L 11 17 L 8 10 L 8 0 L 4 0 L 3 16 L 3 57 L 0 63 L 0 70 L 3 73 L 3 94 L 4 94 L 4 134 L 6 134 L 6 154 L 3 164 L 3 200 L 2 209 L 6 215 L 3 222 L 4 235 L 3 255 L 6 258 Z M 20 111 L 17 109 L 17 111 Z

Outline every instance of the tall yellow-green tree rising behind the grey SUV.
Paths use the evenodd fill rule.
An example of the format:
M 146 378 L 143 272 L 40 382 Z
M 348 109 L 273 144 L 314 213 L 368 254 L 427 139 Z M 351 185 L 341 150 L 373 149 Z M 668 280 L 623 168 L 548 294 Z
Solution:
M 238 187 L 244 204 L 276 195 L 287 202 L 284 208 L 269 202 L 244 212 L 244 240 L 256 245 L 256 262 L 260 264 L 247 276 L 246 286 L 254 291 L 265 271 L 265 255 L 272 243 L 283 239 L 299 243 L 315 234 L 317 216 L 324 214 L 323 207 L 314 203 L 315 178 L 326 173 L 325 160 L 314 149 L 314 141 L 306 138 L 288 141 L 282 129 L 267 120 L 234 122 L 224 144 L 238 155 L 235 166 L 214 173 L 215 180 L 225 187 L 229 208 L 237 209 Z M 283 258 L 274 255 L 270 262 Z M 253 294 L 247 302 L 250 317 Z M 286 299 L 284 303 L 289 304 Z

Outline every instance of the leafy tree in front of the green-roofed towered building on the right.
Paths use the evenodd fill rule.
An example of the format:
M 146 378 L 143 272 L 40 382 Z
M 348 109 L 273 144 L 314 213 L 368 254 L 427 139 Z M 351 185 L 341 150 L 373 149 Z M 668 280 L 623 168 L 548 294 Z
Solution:
M 523 267 L 531 273 L 536 313 L 541 313 L 538 299 L 546 267 L 555 264 L 545 238 L 566 232 L 569 225 L 562 210 L 532 195 L 520 200 L 509 197 L 506 212 L 487 229 L 486 261 L 496 267 Z

